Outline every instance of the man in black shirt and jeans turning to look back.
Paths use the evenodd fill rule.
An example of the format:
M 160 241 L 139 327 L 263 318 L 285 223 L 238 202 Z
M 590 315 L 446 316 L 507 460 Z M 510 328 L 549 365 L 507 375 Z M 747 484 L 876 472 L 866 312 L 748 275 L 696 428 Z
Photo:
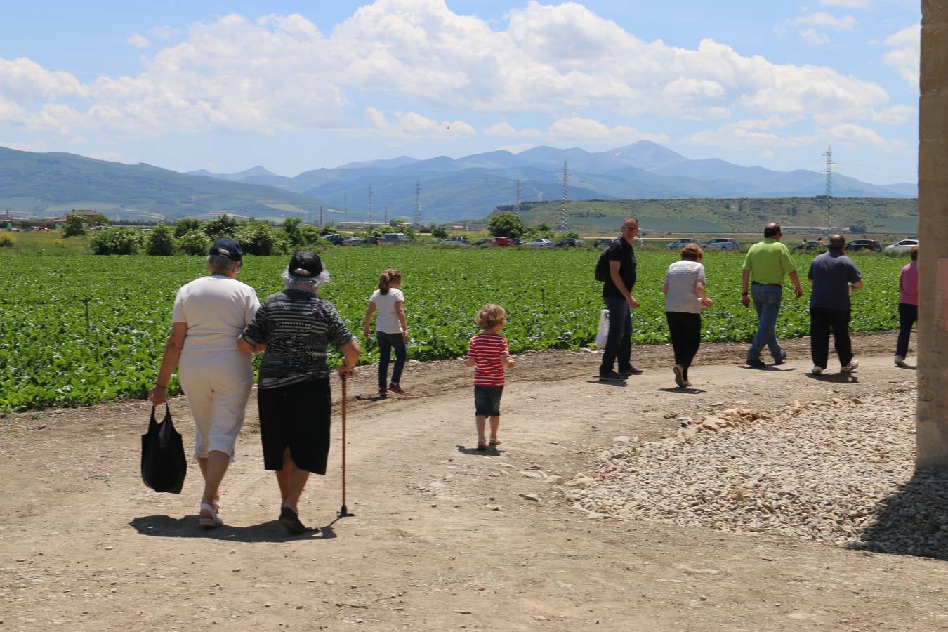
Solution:
M 630 310 L 639 306 L 632 296 L 635 285 L 635 252 L 632 240 L 639 232 L 639 221 L 629 217 L 622 223 L 622 236 L 614 240 L 606 251 L 609 260 L 609 279 L 602 285 L 602 299 L 609 310 L 609 337 L 602 352 L 599 379 L 624 380 L 629 375 L 638 375 L 641 369 L 631 365 L 632 315 Z M 618 370 L 612 365 L 618 360 Z

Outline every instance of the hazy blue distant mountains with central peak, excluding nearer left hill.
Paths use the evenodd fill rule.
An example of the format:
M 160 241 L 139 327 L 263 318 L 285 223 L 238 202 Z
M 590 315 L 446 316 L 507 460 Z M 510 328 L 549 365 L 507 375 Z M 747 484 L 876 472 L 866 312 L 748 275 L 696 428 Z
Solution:
M 292 178 L 263 167 L 241 173 L 191 174 L 291 190 L 334 208 L 345 206 L 354 215 L 364 212 L 371 185 L 374 216 L 385 205 L 390 217 L 409 218 L 414 214 L 417 183 L 423 216 L 430 221 L 483 217 L 514 202 L 518 181 L 521 200 L 560 199 L 564 162 L 571 200 L 811 197 L 826 190 L 826 176 L 821 172 L 775 172 L 717 158 L 691 160 L 647 140 L 598 153 L 536 147 L 457 159 L 400 156 L 302 172 Z M 917 189 L 908 183 L 880 186 L 838 173 L 833 176 L 833 194 L 839 197 L 915 197 Z

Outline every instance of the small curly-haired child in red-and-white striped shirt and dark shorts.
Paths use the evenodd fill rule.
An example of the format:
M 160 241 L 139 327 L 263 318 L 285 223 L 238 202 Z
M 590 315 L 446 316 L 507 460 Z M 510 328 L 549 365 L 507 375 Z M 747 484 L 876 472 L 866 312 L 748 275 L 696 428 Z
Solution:
M 507 313 L 500 305 L 484 305 L 474 318 L 474 324 L 483 331 L 470 339 L 467 348 L 465 366 L 474 367 L 474 420 L 479 450 L 487 449 L 484 437 L 487 417 L 490 417 L 490 444 L 501 444 L 497 430 L 501 426 L 503 370 L 517 366 L 507 350 L 507 339 L 501 336 L 506 321 Z

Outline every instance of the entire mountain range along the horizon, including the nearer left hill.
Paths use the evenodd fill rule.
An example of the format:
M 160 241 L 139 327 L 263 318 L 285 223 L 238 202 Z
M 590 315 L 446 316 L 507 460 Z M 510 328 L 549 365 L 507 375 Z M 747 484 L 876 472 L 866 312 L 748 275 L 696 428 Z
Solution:
M 643 140 L 608 152 L 537 147 L 462 158 L 400 156 L 286 177 L 254 167 L 239 173 L 178 173 L 71 153 L 0 148 L 0 211 L 54 213 L 93 208 L 109 217 L 208 217 L 217 212 L 279 220 L 364 219 L 373 190 L 373 219 L 412 218 L 416 183 L 428 224 L 479 218 L 516 199 L 558 200 L 564 162 L 571 200 L 773 198 L 820 195 L 821 172 L 775 172 L 716 158 L 692 160 Z M 880 186 L 836 173 L 838 197 L 909 198 L 917 186 Z

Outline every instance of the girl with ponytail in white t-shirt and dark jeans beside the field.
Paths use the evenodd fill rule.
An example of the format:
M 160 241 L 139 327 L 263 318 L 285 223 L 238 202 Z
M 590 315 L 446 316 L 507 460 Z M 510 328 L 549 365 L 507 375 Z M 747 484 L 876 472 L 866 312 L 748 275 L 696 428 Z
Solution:
M 369 309 L 365 311 L 362 329 L 365 337 L 372 331 L 369 324 L 372 315 L 375 318 L 375 339 L 378 341 L 378 396 L 384 398 L 391 390 L 393 393 L 404 393 L 398 382 L 405 369 L 405 360 L 408 352 L 405 343 L 409 339 L 409 328 L 405 324 L 405 295 L 398 288 L 402 286 L 402 273 L 394 268 L 382 272 L 378 278 L 378 289 L 369 299 Z M 388 381 L 389 362 L 392 349 L 395 350 L 395 366 L 392 368 L 392 382 Z M 388 387 L 386 387 L 388 385 Z

